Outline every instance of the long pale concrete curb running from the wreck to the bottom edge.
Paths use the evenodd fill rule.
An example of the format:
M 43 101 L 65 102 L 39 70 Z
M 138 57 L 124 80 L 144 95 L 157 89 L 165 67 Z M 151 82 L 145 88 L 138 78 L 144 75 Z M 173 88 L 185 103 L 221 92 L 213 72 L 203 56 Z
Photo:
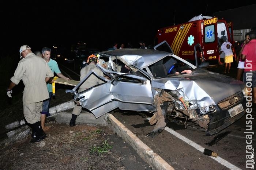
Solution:
M 112 114 L 108 115 L 108 124 L 113 131 L 129 143 L 139 156 L 157 170 L 174 170 L 165 160 L 158 154 L 154 153 L 146 144 L 144 144 L 136 135 L 126 128 Z

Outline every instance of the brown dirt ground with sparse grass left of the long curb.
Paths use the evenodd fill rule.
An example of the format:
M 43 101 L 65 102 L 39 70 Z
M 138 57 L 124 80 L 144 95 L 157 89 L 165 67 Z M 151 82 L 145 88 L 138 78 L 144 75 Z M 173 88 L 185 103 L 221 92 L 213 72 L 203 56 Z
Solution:
M 50 106 L 72 100 L 67 87 L 56 89 Z M 108 126 L 48 122 L 47 137 L 38 144 L 27 138 L 0 146 L 1 170 L 151 170 L 135 150 Z M 104 148 L 104 150 L 102 149 Z M 95 150 L 95 151 L 94 151 Z M 99 152 L 106 151 L 106 152 Z

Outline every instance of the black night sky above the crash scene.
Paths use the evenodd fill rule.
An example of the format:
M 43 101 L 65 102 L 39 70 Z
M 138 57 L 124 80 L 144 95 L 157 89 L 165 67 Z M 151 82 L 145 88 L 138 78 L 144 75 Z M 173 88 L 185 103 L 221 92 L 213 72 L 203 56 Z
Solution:
M 153 43 L 158 28 L 184 23 L 197 15 L 253 4 L 253 1 L 1 1 L 2 52 L 19 47 L 68 46 L 86 42 L 107 50 L 114 42 Z M 221 17 L 221 16 L 219 16 Z M 16 50 L 16 51 L 15 51 Z

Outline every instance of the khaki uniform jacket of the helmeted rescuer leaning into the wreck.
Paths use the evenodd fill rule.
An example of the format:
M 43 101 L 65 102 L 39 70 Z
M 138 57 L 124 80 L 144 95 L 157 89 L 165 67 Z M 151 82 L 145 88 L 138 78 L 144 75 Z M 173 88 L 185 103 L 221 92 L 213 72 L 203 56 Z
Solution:
M 96 65 L 91 62 L 89 65 L 83 67 L 80 71 L 80 81 L 83 80 L 83 78 L 86 76 L 86 74 L 88 74 L 91 70 L 93 70 L 95 73 L 98 74 L 98 76 L 104 76 L 104 74 L 102 73 L 102 71 L 96 67 Z M 101 84 L 104 83 L 102 80 L 99 80 L 96 76 L 94 76 L 94 74 L 91 74 L 90 77 L 87 78 L 86 81 L 84 81 L 84 83 L 80 86 L 79 89 L 88 89 L 92 86 L 95 86 L 97 84 Z

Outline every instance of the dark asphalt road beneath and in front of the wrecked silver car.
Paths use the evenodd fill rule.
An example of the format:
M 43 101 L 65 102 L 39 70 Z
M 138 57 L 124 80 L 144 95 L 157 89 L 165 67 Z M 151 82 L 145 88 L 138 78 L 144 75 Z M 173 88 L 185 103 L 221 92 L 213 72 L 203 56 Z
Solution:
M 61 67 L 61 69 L 64 71 L 65 68 Z M 222 73 L 224 67 L 219 66 L 208 70 Z M 65 72 L 68 71 L 65 70 Z M 226 75 L 236 77 L 236 66 L 233 65 L 230 73 L 226 73 Z M 74 80 L 79 80 L 79 78 L 74 77 Z M 253 105 L 251 113 L 253 117 L 256 117 L 255 108 L 256 105 Z M 112 114 L 175 169 L 246 169 L 246 161 L 249 159 L 246 158 L 248 144 L 246 144 L 245 132 L 256 133 L 254 119 L 252 120 L 252 130 L 246 130 L 248 127 L 246 127 L 245 115 L 216 135 L 206 136 L 206 131 L 196 124 L 187 122 L 185 126 L 184 122 L 174 120 L 167 124 L 161 134 L 151 138 L 147 137 L 147 133 L 154 128 L 148 123 L 148 117 L 152 115 L 118 109 Z M 254 135 L 252 136 L 252 147 L 254 148 L 256 138 Z M 209 146 L 209 144 L 212 145 Z M 218 157 L 204 155 L 205 148 L 216 152 Z

